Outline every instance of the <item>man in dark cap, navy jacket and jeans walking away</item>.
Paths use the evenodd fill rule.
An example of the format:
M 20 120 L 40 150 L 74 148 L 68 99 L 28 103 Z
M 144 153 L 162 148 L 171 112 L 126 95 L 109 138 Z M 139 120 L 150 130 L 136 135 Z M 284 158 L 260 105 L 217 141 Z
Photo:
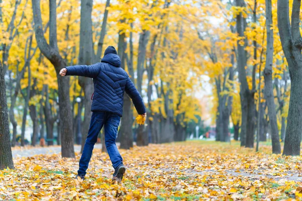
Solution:
M 115 144 L 117 129 L 123 114 L 124 91 L 130 96 L 138 114 L 146 116 L 142 98 L 124 69 L 113 46 L 105 50 L 100 63 L 91 66 L 77 65 L 61 69 L 61 76 L 78 75 L 93 78 L 92 117 L 88 136 L 80 159 L 78 176 L 85 178 L 92 150 L 104 126 L 105 144 L 112 166 L 115 169 L 113 180 L 121 180 L 126 171 L 123 159 Z

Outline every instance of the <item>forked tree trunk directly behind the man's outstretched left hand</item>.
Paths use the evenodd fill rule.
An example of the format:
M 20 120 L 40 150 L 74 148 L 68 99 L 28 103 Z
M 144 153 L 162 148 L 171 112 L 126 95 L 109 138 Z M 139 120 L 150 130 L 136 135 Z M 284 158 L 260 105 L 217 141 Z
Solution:
M 69 97 L 69 77 L 61 77 L 59 72 L 66 66 L 64 59 L 60 56 L 56 39 L 56 1 L 49 1 L 49 45 L 42 30 L 42 18 L 40 0 L 32 0 L 34 16 L 34 29 L 39 49 L 43 55 L 52 63 L 56 70 L 59 95 L 59 115 L 61 125 L 61 153 L 62 157 L 74 158 L 72 114 Z

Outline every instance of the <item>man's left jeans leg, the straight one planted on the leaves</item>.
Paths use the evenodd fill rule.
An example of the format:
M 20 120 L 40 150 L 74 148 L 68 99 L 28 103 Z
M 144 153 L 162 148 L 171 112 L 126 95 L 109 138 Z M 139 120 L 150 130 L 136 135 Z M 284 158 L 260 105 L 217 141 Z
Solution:
M 88 168 L 89 161 L 92 156 L 92 150 L 94 148 L 95 143 L 98 140 L 98 135 L 104 125 L 105 118 L 106 118 L 106 113 L 92 113 L 90 128 L 85 141 L 83 154 L 81 156 L 80 163 L 79 163 L 80 166 L 78 170 L 79 175 L 85 176 L 86 174 L 86 170 Z

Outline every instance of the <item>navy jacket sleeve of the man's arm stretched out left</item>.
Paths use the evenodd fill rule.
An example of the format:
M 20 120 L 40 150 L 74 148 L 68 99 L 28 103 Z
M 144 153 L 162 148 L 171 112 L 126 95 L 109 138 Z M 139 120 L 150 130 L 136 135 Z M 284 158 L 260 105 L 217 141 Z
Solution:
M 98 76 L 101 70 L 101 63 L 96 63 L 94 65 L 76 65 L 66 67 L 66 75 L 77 75 L 83 77 L 95 78 Z

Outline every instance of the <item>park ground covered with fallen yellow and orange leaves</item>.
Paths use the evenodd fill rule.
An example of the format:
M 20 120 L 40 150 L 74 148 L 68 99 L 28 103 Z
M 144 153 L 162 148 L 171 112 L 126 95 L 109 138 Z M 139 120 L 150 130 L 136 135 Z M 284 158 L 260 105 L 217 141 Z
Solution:
M 99 149 L 84 181 L 74 179 L 80 154 L 16 158 L 15 170 L 0 171 L 0 200 L 299 199 L 301 157 L 233 144 L 189 141 L 121 150 L 127 167 L 121 183 L 112 183 L 109 157 Z

